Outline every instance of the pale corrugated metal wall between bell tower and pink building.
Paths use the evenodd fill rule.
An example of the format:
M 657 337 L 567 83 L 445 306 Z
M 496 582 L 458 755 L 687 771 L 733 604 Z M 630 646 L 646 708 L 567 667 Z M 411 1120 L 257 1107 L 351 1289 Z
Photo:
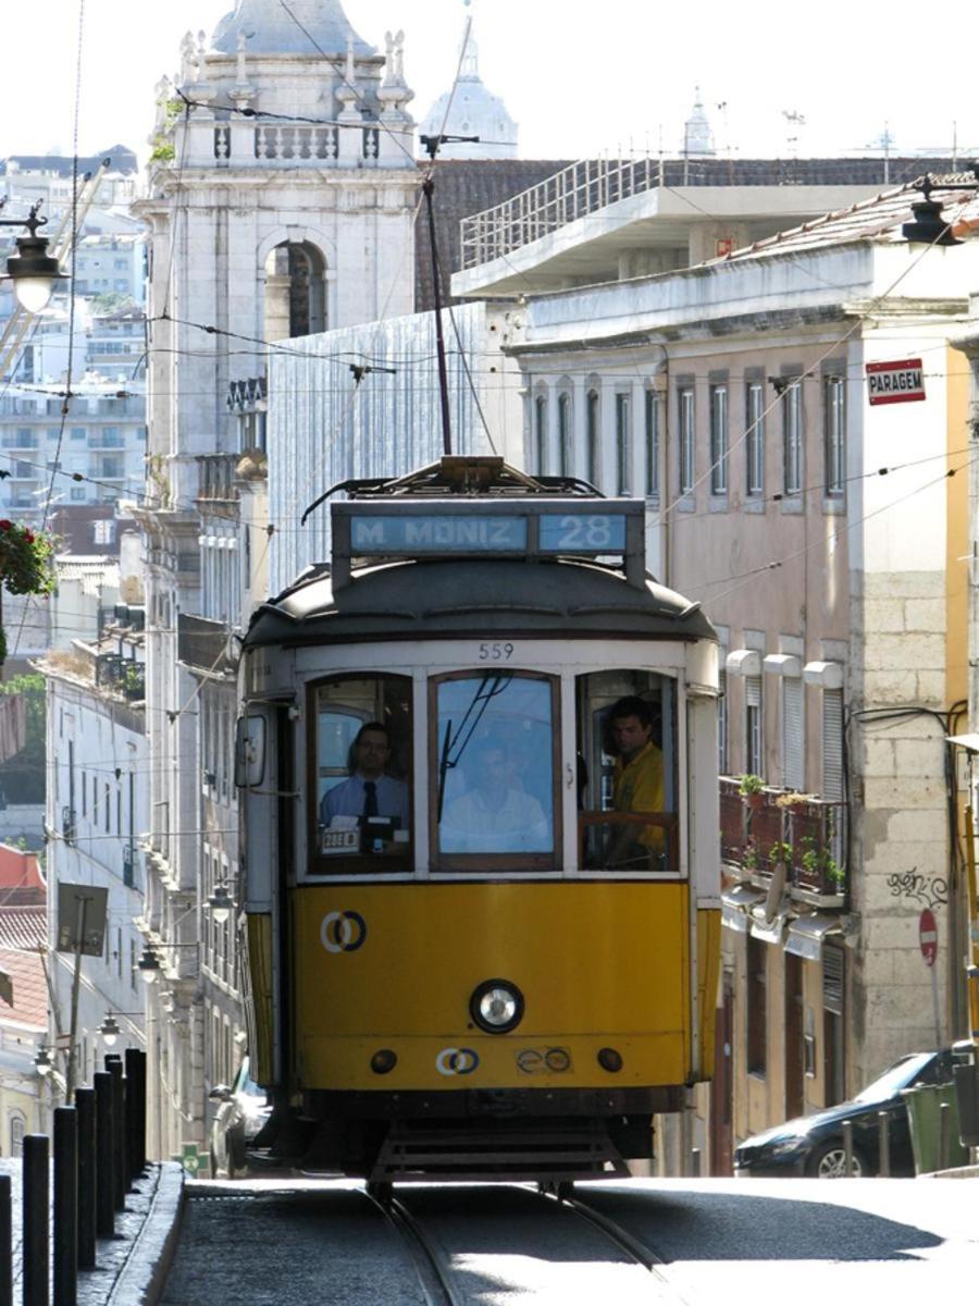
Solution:
M 453 310 L 473 381 L 484 406 L 486 311 Z M 459 342 L 444 319 L 454 453 L 488 453 Z M 368 372 L 356 385 L 351 364 Z M 443 453 L 435 316 L 418 313 L 283 342 L 269 359 L 269 512 L 273 593 L 330 556 L 329 507 L 299 518 L 330 486 L 351 477 L 403 475 Z

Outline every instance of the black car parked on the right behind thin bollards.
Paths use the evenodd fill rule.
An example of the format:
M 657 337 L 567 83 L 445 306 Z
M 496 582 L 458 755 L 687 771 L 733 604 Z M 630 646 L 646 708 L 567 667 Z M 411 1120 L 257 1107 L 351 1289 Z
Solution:
M 952 1080 L 952 1051 L 909 1053 L 848 1102 L 825 1111 L 800 1115 L 774 1128 L 745 1139 L 735 1149 L 736 1175 L 811 1175 L 839 1179 L 846 1174 L 843 1121 L 854 1122 L 855 1175 L 880 1173 L 878 1117 L 889 1113 L 888 1141 L 892 1175 L 914 1175 L 911 1134 L 905 1088 L 918 1084 L 948 1084 Z

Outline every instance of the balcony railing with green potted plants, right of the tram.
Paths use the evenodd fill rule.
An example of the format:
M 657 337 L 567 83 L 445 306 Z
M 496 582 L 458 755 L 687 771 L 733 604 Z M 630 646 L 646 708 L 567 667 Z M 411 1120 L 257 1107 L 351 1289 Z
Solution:
M 847 887 L 843 803 L 764 789 L 744 798 L 739 781 L 721 777 L 721 858 L 728 870 L 766 884 L 778 861 L 801 902 L 842 905 Z

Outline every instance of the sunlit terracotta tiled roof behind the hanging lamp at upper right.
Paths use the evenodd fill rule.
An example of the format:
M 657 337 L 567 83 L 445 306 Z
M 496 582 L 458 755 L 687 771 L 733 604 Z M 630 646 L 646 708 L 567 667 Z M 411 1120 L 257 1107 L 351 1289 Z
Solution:
M 979 222 L 979 199 L 975 191 L 957 189 L 950 183 L 974 183 L 970 174 L 946 174 L 932 178 L 931 199 L 942 205 L 942 218 L 953 232 L 974 230 Z M 920 182 L 920 179 L 919 179 Z M 839 213 L 804 222 L 800 227 L 779 231 L 778 235 L 757 240 L 744 249 L 735 249 L 719 263 L 740 263 L 760 255 L 786 252 L 799 253 L 825 246 L 848 244 L 854 240 L 902 240 L 901 227 L 914 218 L 911 206 L 924 199 L 918 183 L 907 183 L 885 191 L 869 200 L 850 205 Z M 714 261 L 714 260 L 711 260 Z

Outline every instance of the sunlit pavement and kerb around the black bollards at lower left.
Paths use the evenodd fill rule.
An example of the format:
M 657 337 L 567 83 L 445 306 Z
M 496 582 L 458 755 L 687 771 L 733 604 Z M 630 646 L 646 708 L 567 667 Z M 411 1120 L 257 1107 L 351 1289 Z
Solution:
M 21 1298 L 21 1164 L 0 1161 L 13 1196 L 13 1285 Z M 153 1306 L 176 1238 L 184 1186 L 183 1166 L 151 1164 L 116 1213 L 114 1238 L 99 1238 L 95 1269 L 78 1271 L 78 1306 Z

